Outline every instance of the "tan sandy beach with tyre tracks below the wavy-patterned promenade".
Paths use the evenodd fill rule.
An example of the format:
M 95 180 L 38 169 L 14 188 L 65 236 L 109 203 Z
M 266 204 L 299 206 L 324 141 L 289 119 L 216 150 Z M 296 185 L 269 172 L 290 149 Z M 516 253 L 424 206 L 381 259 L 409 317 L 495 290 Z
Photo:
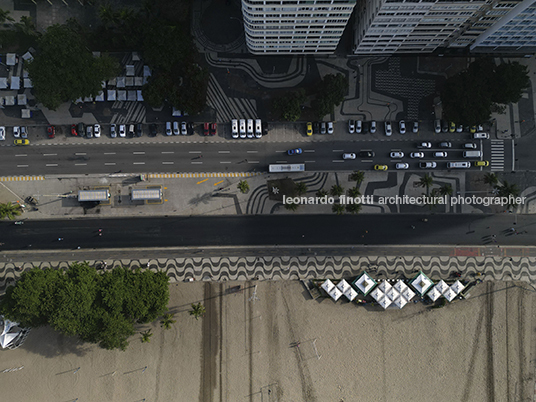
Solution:
M 523 283 L 486 281 L 444 308 L 387 311 L 311 300 L 297 281 L 170 288 L 177 322 L 140 326 L 151 342 L 136 335 L 126 352 L 32 330 L 1 351 L 4 400 L 533 400 L 535 293 Z M 198 301 L 207 315 L 196 321 L 188 310 Z

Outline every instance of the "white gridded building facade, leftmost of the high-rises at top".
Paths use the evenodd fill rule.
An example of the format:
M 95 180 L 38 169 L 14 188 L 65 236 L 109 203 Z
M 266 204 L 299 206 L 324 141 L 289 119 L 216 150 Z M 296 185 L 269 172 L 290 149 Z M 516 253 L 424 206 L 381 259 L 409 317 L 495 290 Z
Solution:
M 253 54 L 330 54 L 356 0 L 242 0 L 246 44 Z

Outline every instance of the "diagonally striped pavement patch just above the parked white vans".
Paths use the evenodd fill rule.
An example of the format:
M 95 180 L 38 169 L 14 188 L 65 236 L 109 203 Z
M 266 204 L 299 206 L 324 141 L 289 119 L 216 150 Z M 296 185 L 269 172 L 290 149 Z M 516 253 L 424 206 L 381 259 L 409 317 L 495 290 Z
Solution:
M 207 90 L 207 104 L 216 110 L 218 123 L 232 119 L 256 119 L 257 102 L 255 99 L 229 98 L 218 80 L 210 75 Z

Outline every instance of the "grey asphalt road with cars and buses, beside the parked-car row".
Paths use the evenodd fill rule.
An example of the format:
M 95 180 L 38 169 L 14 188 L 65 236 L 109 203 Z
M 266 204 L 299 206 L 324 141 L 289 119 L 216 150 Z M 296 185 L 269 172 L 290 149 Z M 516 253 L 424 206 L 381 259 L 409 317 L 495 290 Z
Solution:
M 469 134 L 443 133 L 433 140 L 407 134 L 404 140 L 389 140 L 356 134 L 355 141 L 326 142 L 259 142 L 228 140 L 204 143 L 173 142 L 162 137 L 161 142 L 144 143 L 141 139 L 106 139 L 99 142 L 80 139 L 77 144 L 54 142 L 32 143 L 29 146 L 0 146 L 0 175 L 89 174 L 89 173 L 147 173 L 147 172 L 247 172 L 267 171 L 269 164 L 305 163 L 307 171 L 370 170 L 375 164 L 394 169 L 397 162 L 407 162 L 409 170 L 419 170 L 419 162 L 437 162 L 437 170 L 445 170 L 447 162 L 467 161 L 462 156 L 463 144 L 475 143 L 483 152 L 483 159 L 491 159 L 489 141 L 470 140 Z M 102 140 L 102 141 L 101 141 Z M 55 140 L 50 140 L 55 141 Z M 431 149 L 418 149 L 421 141 L 430 141 Z M 450 141 L 451 149 L 439 148 L 442 141 Z M 508 144 L 508 142 L 506 143 Z M 299 155 L 288 155 L 289 149 L 301 148 Z M 373 151 L 373 158 L 357 157 L 343 160 L 346 152 Z M 393 151 L 402 151 L 403 158 L 390 157 Z M 422 151 L 424 158 L 411 158 L 410 153 Z M 434 152 L 446 151 L 446 158 L 436 158 Z M 505 156 L 511 151 L 505 150 Z M 506 161 L 505 165 L 511 164 Z M 482 168 L 472 168 L 482 169 Z M 485 169 L 490 169 L 485 168 Z

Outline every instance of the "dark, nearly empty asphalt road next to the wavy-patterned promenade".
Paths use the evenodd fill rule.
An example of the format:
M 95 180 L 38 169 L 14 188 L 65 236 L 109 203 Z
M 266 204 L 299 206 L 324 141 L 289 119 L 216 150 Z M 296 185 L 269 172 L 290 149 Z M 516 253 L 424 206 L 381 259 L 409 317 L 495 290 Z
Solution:
M 536 244 L 536 217 L 385 214 L 73 219 L 25 221 L 22 225 L 1 222 L 0 243 L 3 250 L 74 250 L 79 246 L 531 246 Z

